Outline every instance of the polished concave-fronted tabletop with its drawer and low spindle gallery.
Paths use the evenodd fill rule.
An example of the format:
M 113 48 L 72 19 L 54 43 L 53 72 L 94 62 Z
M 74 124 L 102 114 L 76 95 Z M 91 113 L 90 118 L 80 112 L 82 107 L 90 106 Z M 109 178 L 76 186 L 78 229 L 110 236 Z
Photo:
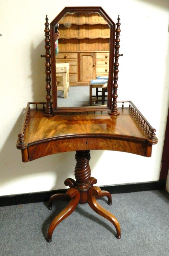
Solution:
M 158 142 L 155 129 L 132 105 L 118 108 L 118 116 L 88 112 L 62 113 L 48 118 L 43 112 L 43 109 L 31 109 L 28 103 L 17 141 L 23 162 L 88 149 L 117 150 L 150 157 L 152 145 Z

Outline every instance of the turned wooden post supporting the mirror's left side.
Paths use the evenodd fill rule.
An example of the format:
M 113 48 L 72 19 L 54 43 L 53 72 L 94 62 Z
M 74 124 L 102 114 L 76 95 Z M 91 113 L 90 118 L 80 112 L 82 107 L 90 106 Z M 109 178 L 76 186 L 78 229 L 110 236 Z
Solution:
M 46 95 L 46 108 L 45 108 L 45 112 L 44 112 L 44 116 L 46 117 L 51 117 L 53 116 L 53 110 L 52 110 L 52 102 L 51 102 L 51 98 L 52 96 L 50 95 L 50 92 L 51 92 L 51 85 L 50 85 L 50 82 L 51 82 L 51 78 L 50 78 L 50 39 L 49 39 L 49 36 L 50 36 L 50 30 L 49 30 L 49 23 L 48 23 L 48 17 L 46 15 L 46 22 L 45 22 L 45 49 L 46 49 L 46 54 L 45 55 L 41 55 L 41 57 L 45 57 L 46 58 L 46 64 L 45 64 L 45 67 L 46 67 L 46 70 L 45 70 L 45 73 L 46 73 L 46 92 L 47 92 L 47 95 Z

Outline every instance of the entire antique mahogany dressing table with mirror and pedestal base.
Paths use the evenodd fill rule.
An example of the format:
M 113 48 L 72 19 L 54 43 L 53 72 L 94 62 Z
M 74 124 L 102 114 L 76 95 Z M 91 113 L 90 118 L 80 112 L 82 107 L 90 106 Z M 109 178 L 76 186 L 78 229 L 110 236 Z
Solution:
M 62 50 L 64 45 L 69 48 L 65 49 L 64 53 L 59 52 L 63 54 L 63 57 L 65 56 L 63 59 L 61 55 L 58 59 L 55 56 L 54 27 L 58 23 L 61 35 L 58 44 L 61 45 Z M 94 28 L 96 32 L 94 32 Z M 92 32 L 89 32 L 90 29 Z M 97 34 L 98 31 L 101 33 L 100 36 Z M 103 48 L 98 50 L 100 38 L 102 38 Z M 70 49 L 71 42 L 74 51 Z M 84 45 L 87 42 L 89 45 L 91 44 L 91 49 L 84 50 Z M 83 48 L 82 53 L 80 53 L 80 47 Z M 118 220 L 97 202 L 97 199 L 106 196 L 108 204 L 111 205 L 112 197 L 109 192 L 101 191 L 99 187 L 94 186 L 97 180 L 91 177 L 90 150 L 116 150 L 151 157 L 152 145 L 158 142 L 155 129 L 134 103 L 125 100 L 117 101 L 119 48 L 120 18 L 118 17 L 115 24 L 101 7 L 65 7 L 50 23 L 50 29 L 46 17 L 46 54 L 41 55 L 46 59 L 46 102 L 28 102 L 21 132 L 18 135 L 17 148 L 21 150 L 23 162 L 51 154 L 76 151 L 75 180 L 66 179 L 65 185 L 70 187 L 66 194 L 55 194 L 49 199 L 49 209 L 52 209 L 54 200 L 69 201 L 69 203 L 50 224 L 46 238 L 48 242 L 52 240 L 55 227 L 75 210 L 78 203 L 87 202 L 96 213 L 114 225 L 117 232 L 116 237 L 121 238 Z M 103 56 L 99 54 L 105 53 L 104 51 L 108 53 L 109 57 L 105 58 L 109 62 L 107 104 L 101 105 L 98 102 L 95 106 L 90 106 L 89 103 L 89 106 L 70 106 L 70 108 L 57 106 L 57 72 L 55 69 L 57 60 L 59 60 L 58 63 L 64 63 L 66 60 L 65 63 L 70 64 L 70 90 L 73 83 L 74 86 L 86 86 L 89 95 L 90 80 L 96 78 L 97 70 L 102 70 L 102 67 L 99 67 L 95 71 L 95 66 L 99 66 L 99 63 L 102 64 L 101 60 L 97 61 L 97 56 Z M 70 53 L 74 55 L 70 55 Z M 67 58 L 68 56 L 70 58 Z M 75 58 L 76 56 L 78 62 L 72 62 L 71 57 Z M 104 61 L 104 58 L 102 59 Z M 84 71 L 83 61 L 88 63 L 88 69 L 91 68 L 94 71 L 80 76 L 77 71 Z M 96 65 L 94 65 L 95 63 Z M 75 67 L 71 68 L 71 66 Z M 105 75 L 106 73 L 99 73 L 99 75 L 101 74 Z M 73 82 L 73 77 L 78 79 Z

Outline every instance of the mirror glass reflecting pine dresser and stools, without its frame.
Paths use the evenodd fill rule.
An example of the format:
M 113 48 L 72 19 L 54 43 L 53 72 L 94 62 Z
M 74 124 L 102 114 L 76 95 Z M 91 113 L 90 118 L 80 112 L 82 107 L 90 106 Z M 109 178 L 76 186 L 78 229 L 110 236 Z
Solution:
M 110 26 L 98 12 L 68 12 L 58 24 L 57 106 L 106 105 Z

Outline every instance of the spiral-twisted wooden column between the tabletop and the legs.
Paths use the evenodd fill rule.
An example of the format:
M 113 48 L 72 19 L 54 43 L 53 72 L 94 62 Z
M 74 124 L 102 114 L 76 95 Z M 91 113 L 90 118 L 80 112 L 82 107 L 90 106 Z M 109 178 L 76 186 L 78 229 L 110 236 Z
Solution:
M 76 178 L 74 187 L 77 188 L 81 193 L 80 203 L 86 203 L 87 191 L 90 188 L 90 176 L 91 176 L 91 169 L 89 165 L 90 150 L 76 151 L 75 159 L 77 163 L 74 171 L 75 178 Z M 85 199 L 83 197 L 85 197 Z M 83 201 L 86 201 L 86 202 L 83 202 Z

